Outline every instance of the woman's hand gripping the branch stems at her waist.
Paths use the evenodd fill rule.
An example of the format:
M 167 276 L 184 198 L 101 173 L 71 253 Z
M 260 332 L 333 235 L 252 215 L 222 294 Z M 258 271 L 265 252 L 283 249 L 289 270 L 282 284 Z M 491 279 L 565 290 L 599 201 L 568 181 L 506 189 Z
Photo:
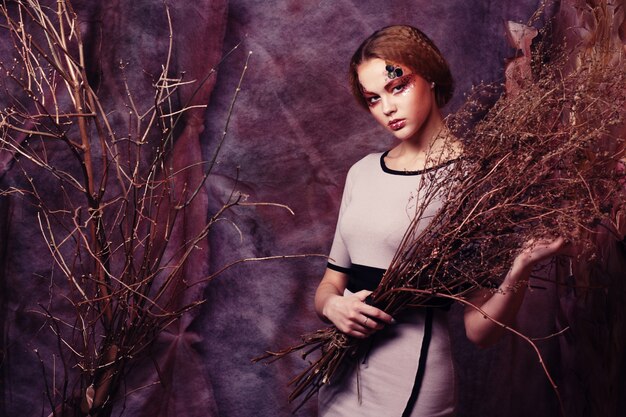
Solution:
M 350 295 L 332 295 L 326 299 L 322 314 L 343 333 L 366 338 L 393 323 L 393 318 L 384 311 L 365 302 L 372 292 L 362 290 Z

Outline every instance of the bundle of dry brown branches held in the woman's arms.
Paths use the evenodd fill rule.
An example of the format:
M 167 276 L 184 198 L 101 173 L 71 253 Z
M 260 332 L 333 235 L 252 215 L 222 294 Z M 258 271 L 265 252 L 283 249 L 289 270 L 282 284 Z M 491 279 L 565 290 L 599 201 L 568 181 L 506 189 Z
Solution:
M 467 303 L 464 294 L 497 284 L 532 239 L 563 236 L 584 248 L 581 256 L 593 257 L 588 237 L 596 228 L 618 230 L 614 213 L 625 199 L 616 168 L 624 138 L 615 132 L 623 124 L 626 67 L 621 51 L 602 46 L 571 68 L 569 54 L 538 43 L 518 91 L 486 109 L 481 94 L 489 90 L 479 89 L 449 118 L 463 156 L 416 184 L 424 203 L 372 293 L 373 305 L 394 316 L 442 298 Z M 481 121 L 468 128 L 481 112 Z M 420 227 L 429 221 L 421 211 L 441 197 L 441 210 Z M 291 382 L 290 400 L 302 395 L 304 403 L 362 343 L 331 327 L 257 360 L 319 352 Z

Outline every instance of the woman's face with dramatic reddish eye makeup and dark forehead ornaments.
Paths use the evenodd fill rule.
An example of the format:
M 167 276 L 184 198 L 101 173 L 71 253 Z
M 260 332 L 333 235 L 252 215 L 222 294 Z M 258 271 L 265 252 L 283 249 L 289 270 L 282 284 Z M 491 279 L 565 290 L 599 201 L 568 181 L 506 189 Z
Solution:
M 419 139 L 437 104 L 431 84 L 404 65 L 379 58 L 357 67 L 370 112 L 400 140 Z

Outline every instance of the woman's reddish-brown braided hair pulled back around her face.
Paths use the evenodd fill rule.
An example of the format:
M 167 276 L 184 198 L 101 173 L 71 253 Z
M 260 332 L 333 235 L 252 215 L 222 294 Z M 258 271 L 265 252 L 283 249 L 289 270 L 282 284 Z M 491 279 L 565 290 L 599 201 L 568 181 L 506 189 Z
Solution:
M 404 65 L 426 81 L 435 83 L 437 106 L 443 107 L 454 92 L 454 80 L 446 59 L 428 36 L 412 26 L 387 26 L 365 39 L 350 60 L 350 88 L 365 109 L 357 68 L 369 59 L 379 58 L 396 65 Z

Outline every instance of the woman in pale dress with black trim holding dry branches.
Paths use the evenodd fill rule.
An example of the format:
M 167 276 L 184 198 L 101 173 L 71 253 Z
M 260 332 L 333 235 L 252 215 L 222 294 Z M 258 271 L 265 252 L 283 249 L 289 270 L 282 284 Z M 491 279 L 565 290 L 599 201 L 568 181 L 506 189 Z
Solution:
M 437 47 L 410 26 L 383 28 L 357 49 L 350 64 L 352 91 L 398 143 L 371 154 L 348 172 L 328 267 L 315 294 L 325 321 L 368 348 L 342 375 L 322 387 L 320 416 L 451 416 L 454 369 L 445 309 L 411 310 L 399 317 L 368 305 L 398 245 L 420 211 L 421 227 L 440 199 L 420 201 L 417 184 L 452 166 L 462 153 L 447 131 L 440 108 L 453 91 L 450 70 Z M 533 266 L 562 249 L 563 239 L 524 250 L 499 291 L 477 290 L 468 298 L 489 317 L 510 324 L 524 298 Z M 468 338 L 488 345 L 501 326 L 466 308 Z

